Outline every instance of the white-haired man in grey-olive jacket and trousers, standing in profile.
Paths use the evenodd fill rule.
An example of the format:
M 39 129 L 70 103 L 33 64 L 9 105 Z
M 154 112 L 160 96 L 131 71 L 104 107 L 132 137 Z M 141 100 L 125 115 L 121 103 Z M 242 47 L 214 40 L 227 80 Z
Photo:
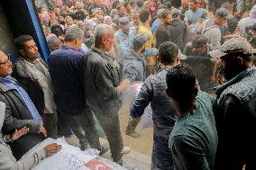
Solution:
M 94 47 L 88 52 L 83 65 L 86 102 L 105 131 L 113 161 L 122 165 L 122 156 L 130 148 L 123 148 L 118 111 L 121 95 L 130 81 L 125 79 L 120 84 L 120 72 L 106 54 L 113 48 L 114 29 L 100 23 L 96 26 L 94 38 Z

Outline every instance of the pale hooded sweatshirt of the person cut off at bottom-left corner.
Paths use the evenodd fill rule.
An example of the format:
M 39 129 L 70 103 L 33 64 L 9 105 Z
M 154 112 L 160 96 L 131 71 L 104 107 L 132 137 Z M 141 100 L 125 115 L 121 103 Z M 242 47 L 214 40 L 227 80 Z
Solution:
M 0 169 L 2 170 L 29 170 L 33 166 L 37 165 L 41 159 L 46 157 L 43 149 L 34 152 L 32 155 L 22 158 L 16 161 L 14 158 L 11 148 L 2 138 L 2 127 L 5 118 L 5 103 L 0 102 Z

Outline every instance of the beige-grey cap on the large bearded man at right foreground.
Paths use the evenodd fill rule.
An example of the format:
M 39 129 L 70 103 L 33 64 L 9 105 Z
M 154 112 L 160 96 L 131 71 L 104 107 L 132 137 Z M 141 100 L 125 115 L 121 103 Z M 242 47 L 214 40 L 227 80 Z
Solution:
M 209 54 L 212 58 L 221 58 L 234 52 L 252 54 L 255 53 L 255 49 L 252 49 L 251 44 L 246 39 L 234 38 L 226 40 L 220 49 L 210 51 Z

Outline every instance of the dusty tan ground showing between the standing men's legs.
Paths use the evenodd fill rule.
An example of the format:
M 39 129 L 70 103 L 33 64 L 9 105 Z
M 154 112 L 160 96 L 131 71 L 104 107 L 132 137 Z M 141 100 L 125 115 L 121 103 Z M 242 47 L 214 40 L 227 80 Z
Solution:
M 132 148 L 132 151 L 123 155 L 123 166 L 127 169 L 149 170 L 151 169 L 151 148 L 152 148 L 152 129 L 142 130 L 141 125 L 137 127 L 137 131 L 142 135 L 141 138 L 134 139 L 125 135 L 125 129 L 129 119 L 131 100 L 126 100 L 120 109 L 120 125 L 123 135 L 124 146 Z M 69 144 L 78 146 L 79 142 L 75 136 L 67 138 Z M 107 143 L 106 139 L 100 139 L 102 144 Z M 102 157 L 111 159 L 110 152 L 106 152 Z

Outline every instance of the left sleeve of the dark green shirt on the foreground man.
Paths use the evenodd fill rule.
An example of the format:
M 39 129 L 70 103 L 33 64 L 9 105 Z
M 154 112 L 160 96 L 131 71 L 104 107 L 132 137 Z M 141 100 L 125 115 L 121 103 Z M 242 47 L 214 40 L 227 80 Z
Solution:
M 197 139 L 187 136 L 173 137 L 171 150 L 175 151 L 175 155 L 177 155 L 187 170 L 210 169 L 206 160 L 206 153 L 200 147 Z

